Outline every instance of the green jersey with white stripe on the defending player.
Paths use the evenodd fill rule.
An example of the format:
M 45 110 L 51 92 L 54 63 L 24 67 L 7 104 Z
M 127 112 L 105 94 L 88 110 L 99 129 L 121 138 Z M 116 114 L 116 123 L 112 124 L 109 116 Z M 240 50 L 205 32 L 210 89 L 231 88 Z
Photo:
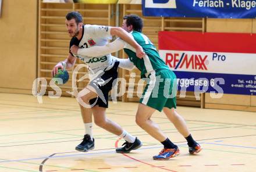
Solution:
M 132 46 L 126 44 L 124 48 L 131 62 L 133 62 L 133 64 L 141 71 L 141 77 L 148 76 L 151 71 L 155 71 L 158 69 L 169 70 L 169 67 L 159 56 L 157 49 L 147 36 L 137 31 L 132 31 L 130 34 L 133 35 L 134 40 L 140 46 L 142 46 L 144 52 L 146 53 L 143 59 L 139 59 L 136 57 L 136 51 Z

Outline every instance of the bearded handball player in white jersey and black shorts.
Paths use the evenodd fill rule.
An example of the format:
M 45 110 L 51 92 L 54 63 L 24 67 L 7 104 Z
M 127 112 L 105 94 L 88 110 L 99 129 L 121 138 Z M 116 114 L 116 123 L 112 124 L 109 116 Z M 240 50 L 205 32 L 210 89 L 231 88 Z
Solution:
M 136 55 L 138 57 L 142 58 L 144 56 L 141 46 L 120 27 L 84 25 L 83 18 L 79 12 L 67 13 L 65 23 L 69 37 L 72 37 L 70 40 L 70 48 L 73 46 L 89 48 L 95 45 L 106 45 L 108 44 L 108 40 L 112 39 L 112 35 L 116 35 L 133 46 L 133 48 L 136 49 Z M 94 149 L 91 113 L 93 113 L 94 122 L 97 126 L 125 139 L 125 146 L 120 148 L 120 152 L 128 153 L 131 150 L 140 148 L 142 144 L 137 137 L 130 135 L 129 132 L 123 130 L 119 124 L 107 119 L 105 114 L 106 108 L 108 107 L 108 92 L 112 89 L 113 85 L 115 85 L 113 82 L 118 77 L 117 69 L 119 62 L 116 61 L 115 58 L 112 58 L 110 53 L 92 58 L 69 52 L 67 59 L 63 62 L 59 62 L 55 65 L 54 69 L 52 69 L 52 76 L 58 74 L 59 68 L 64 70 L 73 67 L 77 58 L 87 64 L 90 74 L 90 83 L 76 95 L 85 127 L 83 141 L 76 146 L 76 150 L 87 152 L 90 149 Z M 88 105 L 90 105 L 91 108 L 86 108 Z

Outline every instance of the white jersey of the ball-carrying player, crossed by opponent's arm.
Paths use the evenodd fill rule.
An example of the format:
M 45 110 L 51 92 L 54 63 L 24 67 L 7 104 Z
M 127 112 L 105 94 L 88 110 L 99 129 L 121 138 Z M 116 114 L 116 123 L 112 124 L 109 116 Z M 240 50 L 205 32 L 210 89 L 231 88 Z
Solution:
M 106 45 L 108 44 L 108 40 L 112 39 L 110 30 L 111 27 L 108 26 L 86 24 L 83 26 L 83 35 L 81 40 L 78 40 L 76 37 L 72 38 L 70 40 L 70 47 L 72 45 L 77 45 L 79 48 L 90 48 L 91 46 Z M 106 53 L 102 56 L 96 56 L 94 58 L 83 55 L 73 56 L 83 60 L 83 62 L 90 67 L 90 69 L 88 69 L 90 73 L 97 73 L 99 70 L 103 71 L 107 67 L 109 68 L 109 66 L 112 66 L 111 64 L 113 63 L 113 59 L 110 53 Z

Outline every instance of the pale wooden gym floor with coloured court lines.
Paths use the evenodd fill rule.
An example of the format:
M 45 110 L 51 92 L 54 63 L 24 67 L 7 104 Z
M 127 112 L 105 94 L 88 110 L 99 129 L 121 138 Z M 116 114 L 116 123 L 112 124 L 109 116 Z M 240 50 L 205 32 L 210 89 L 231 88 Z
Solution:
M 0 94 L 0 171 L 255 171 L 256 113 L 178 107 L 203 150 L 189 155 L 186 140 L 163 113 L 156 121 L 179 145 L 180 155 L 155 161 L 161 149 L 135 123 L 137 103 L 109 104 L 107 116 L 143 142 L 129 154 L 115 153 L 123 141 L 94 125 L 95 149 L 77 152 L 84 127 L 74 98 Z

